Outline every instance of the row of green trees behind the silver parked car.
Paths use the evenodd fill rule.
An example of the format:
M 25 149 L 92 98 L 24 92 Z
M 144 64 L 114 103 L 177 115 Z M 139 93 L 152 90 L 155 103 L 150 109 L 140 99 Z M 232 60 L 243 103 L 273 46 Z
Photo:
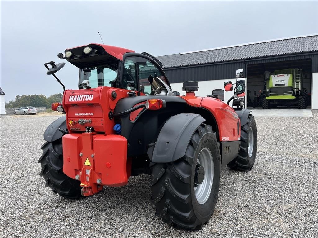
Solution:
M 26 106 L 51 108 L 53 102 L 62 102 L 63 94 L 53 94 L 49 97 L 43 94 L 17 95 L 14 101 L 5 103 L 6 108 L 19 108 Z

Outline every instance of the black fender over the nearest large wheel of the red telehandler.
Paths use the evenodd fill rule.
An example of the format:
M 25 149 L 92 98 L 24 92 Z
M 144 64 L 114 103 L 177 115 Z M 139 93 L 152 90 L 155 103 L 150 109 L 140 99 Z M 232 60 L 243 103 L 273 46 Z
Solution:
M 169 163 L 182 158 L 193 134 L 203 122 L 205 119 L 199 114 L 171 116 L 163 125 L 155 145 L 148 149 L 151 162 Z

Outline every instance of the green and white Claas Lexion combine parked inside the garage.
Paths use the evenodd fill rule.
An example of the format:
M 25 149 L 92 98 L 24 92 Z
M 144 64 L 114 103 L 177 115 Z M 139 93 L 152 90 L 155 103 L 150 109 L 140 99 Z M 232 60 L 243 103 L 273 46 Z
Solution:
M 268 76 L 265 77 L 263 109 L 292 105 L 298 105 L 299 109 L 307 108 L 308 92 L 302 85 L 301 69 L 275 70 L 273 75 Z

